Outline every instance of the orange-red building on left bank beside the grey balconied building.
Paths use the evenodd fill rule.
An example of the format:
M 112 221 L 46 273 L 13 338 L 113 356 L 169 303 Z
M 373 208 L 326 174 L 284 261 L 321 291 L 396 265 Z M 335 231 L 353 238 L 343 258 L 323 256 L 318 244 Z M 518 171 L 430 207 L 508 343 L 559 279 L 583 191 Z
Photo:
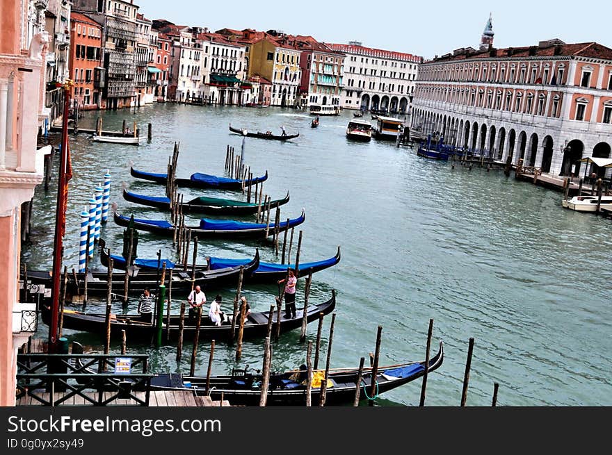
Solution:
M 70 24 L 72 100 L 79 109 L 97 109 L 102 101 L 102 26 L 81 13 L 71 13 Z

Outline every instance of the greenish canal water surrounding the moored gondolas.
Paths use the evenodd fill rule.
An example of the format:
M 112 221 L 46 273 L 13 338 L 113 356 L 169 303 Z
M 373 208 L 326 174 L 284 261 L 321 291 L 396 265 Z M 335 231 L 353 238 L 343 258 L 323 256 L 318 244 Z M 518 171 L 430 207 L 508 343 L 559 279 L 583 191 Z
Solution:
M 120 213 L 166 219 L 165 213 L 122 199 L 122 187 L 146 195 L 162 195 L 163 186 L 138 181 L 129 167 L 166 172 L 168 156 L 179 142 L 177 176 L 193 172 L 223 175 L 227 145 L 240 154 L 242 138 L 228 126 L 288 134 L 291 142 L 247 138 L 244 162 L 254 175 L 268 171 L 264 192 L 273 199 L 290 192 L 281 219 L 297 217 L 305 208 L 306 221 L 293 239 L 295 258 L 298 231 L 303 231 L 300 263 L 334 256 L 341 262 L 314 274 L 310 301 L 328 299 L 337 292 L 336 319 L 330 367 L 359 365 L 375 351 L 382 327 L 380 365 L 420 361 L 426 353 L 429 320 L 433 319 L 432 351 L 444 341 L 444 363 L 427 381 L 426 405 L 458 406 L 465 375 L 469 338 L 474 351 L 469 374 L 467 406 L 489 406 L 494 383 L 499 383 L 499 406 L 611 406 L 612 351 L 609 283 L 612 281 L 610 220 L 561 208 L 561 193 L 506 178 L 503 172 L 438 163 L 417 157 L 410 148 L 372 140 L 346 139 L 346 111 L 321 117 L 311 129 L 307 112 L 282 108 L 236 108 L 160 104 L 136 110 L 84 113 L 80 128 L 95 128 L 99 115 L 103 129 L 119 130 L 125 119 L 136 122 L 146 135 L 152 124 L 152 142 L 140 147 L 95 144 L 81 133 L 71 138 L 74 178 L 65 237 L 65 263 L 77 267 L 79 220 L 83 207 L 102 182 L 112 176 L 111 202 Z M 204 194 L 184 189 L 188 196 Z M 231 192 L 207 191 L 236 199 Z M 32 235 L 24 245 L 29 270 L 50 269 L 53 246 L 56 187 L 45 194 L 36 190 Z M 187 218 L 187 217 L 186 217 Z M 190 217 L 191 224 L 197 218 Z M 112 217 L 102 238 L 117 253 L 122 231 Z M 280 262 L 270 245 L 225 240 L 200 242 L 198 254 Z M 138 256 L 176 258 L 171 241 L 140 234 Z M 99 267 L 97 256 L 92 266 Z M 298 283 L 298 306 L 304 283 Z M 120 290 L 118 290 L 120 292 Z M 264 311 L 273 304 L 277 286 L 244 290 L 251 307 Z M 209 294 L 216 294 L 210 292 Z M 235 289 L 220 292 L 223 308 L 231 310 Z M 176 296 L 178 311 L 186 296 Z M 209 300 L 214 295 L 208 295 Z M 80 309 L 79 306 L 70 308 Z M 88 304 L 88 311 L 104 306 Z M 113 311 L 120 313 L 121 304 Z M 136 311 L 136 303 L 128 308 Z M 319 367 L 325 367 L 331 317 L 323 324 Z M 40 324 L 38 336 L 46 337 Z M 98 336 L 65 331 L 88 349 L 100 351 Z M 305 363 L 305 345 L 299 330 L 281 336 L 274 347 L 273 370 Z M 308 326 L 316 339 L 316 323 Z M 188 371 L 191 345 L 186 342 L 181 365 L 175 345 L 154 349 L 134 345 L 131 353 L 147 352 L 156 371 Z M 113 349 L 119 345 L 113 343 Z M 234 349 L 218 342 L 212 371 L 225 374 L 232 367 L 261 368 L 263 342 L 245 343 L 241 361 Z M 206 374 L 208 342 L 200 343 L 197 374 Z M 421 381 L 386 392 L 382 406 L 419 404 Z

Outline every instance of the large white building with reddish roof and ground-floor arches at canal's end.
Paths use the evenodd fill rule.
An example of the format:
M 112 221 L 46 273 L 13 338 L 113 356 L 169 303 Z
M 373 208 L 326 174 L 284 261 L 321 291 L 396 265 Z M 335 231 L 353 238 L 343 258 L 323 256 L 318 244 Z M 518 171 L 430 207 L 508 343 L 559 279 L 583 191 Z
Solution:
M 360 42 L 329 44 L 344 58 L 343 108 L 407 114 L 414 95 L 419 63 L 410 53 L 364 47 Z

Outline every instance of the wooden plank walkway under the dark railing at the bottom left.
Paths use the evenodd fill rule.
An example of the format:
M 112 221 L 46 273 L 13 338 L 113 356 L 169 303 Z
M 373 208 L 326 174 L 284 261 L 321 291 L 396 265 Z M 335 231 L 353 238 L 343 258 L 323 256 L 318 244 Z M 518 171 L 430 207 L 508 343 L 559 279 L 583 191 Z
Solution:
M 49 400 L 49 392 L 42 394 L 42 398 Z M 67 392 L 55 392 L 54 401 L 67 395 Z M 92 400 L 97 400 L 98 392 L 83 392 Z M 104 392 L 104 399 L 114 395 L 114 392 Z M 145 401 L 145 392 L 135 392 L 138 399 Z M 17 400 L 17 406 L 42 406 L 42 403 L 34 399 L 31 395 L 21 397 Z M 92 406 L 85 397 L 74 395 L 58 406 Z M 106 406 L 140 406 L 133 399 L 115 399 Z M 180 407 L 201 407 L 201 406 L 232 406 L 227 400 L 213 401 L 210 397 L 197 397 L 193 390 L 152 390 L 149 395 L 149 406 L 180 406 Z

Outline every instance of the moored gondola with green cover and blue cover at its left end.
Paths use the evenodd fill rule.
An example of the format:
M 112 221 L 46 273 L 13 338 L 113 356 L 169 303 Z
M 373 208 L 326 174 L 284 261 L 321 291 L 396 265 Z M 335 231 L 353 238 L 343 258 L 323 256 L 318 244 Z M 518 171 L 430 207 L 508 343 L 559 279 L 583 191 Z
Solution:
M 170 210 L 170 198 L 137 195 L 135 192 L 123 190 L 123 199 L 143 206 Z M 270 208 L 276 208 L 289 202 L 289 192 L 282 199 L 270 202 Z M 263 205 L 254 202 L 234 201 L 232 199 L 221 199 L 217 197 L 196 197 L 191 201 L 178 204 L 182 213 L 204 213 L 208 215 L 252 215 L 261 210 Z M 267 204 L 266 204 L 267 207 Z

